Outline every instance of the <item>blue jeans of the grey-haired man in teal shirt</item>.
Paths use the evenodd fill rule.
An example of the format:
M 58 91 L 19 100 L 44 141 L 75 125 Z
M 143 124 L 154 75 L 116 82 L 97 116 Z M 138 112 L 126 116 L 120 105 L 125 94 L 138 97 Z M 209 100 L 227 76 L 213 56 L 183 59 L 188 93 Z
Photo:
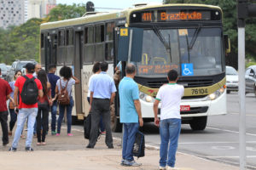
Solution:
M 136 133 L 138 131 L 139 124 L 134 123 L 124 123 L 123 124 L 123 151 L 122 156 L 124 160 L 133 161 L 132 150 L 133 144 L 136 138 Z

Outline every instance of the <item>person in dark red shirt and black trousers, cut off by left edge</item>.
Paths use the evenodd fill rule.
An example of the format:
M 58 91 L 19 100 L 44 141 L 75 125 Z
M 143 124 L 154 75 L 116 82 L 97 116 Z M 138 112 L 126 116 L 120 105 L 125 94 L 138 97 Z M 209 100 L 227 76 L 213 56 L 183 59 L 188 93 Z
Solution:
M 1 69 L 0 69 L 1 76 Z M 10 93 L 12 92 L 12 88 L 9 87 L 9 83 L 0 78 L 0 122 L 3 131 L 3 146 L 9 144 L 8 137 L 8 109 L 6 105 L 6 100 L 10 98 Z

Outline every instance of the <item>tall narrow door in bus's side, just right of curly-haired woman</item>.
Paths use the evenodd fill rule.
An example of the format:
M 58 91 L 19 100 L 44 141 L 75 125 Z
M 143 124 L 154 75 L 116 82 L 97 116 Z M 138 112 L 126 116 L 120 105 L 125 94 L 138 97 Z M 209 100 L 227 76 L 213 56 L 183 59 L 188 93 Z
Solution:
M 77 77 L 81 81 L 82 65 L 82 43 L 83 43 L 83 31 L 75 31 L 75 54 L 73 59 L 74 77 Z M 82 83 L 75 85 L 75 108 L 79 119 L 84 119 L 83 103 L 82 103 Z

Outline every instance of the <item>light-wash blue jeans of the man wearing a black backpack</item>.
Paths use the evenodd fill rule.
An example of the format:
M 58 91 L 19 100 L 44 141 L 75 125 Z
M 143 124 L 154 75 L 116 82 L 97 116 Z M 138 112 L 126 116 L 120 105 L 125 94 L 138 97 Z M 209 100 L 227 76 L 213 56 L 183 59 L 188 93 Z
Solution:
M 31 108 L 31 109 L 20 109 L 17 119 L 17 128 L 15 131 L 15 138 L 12 144 L 13 148 L 18 147 L 18 143 L 20 140 L 20 135 L 23 130 L 24 124 L 27 118 L 27 136 L 26 136 L 26 147 L 30 147 L 32 144 L 32 137 L 33 137 L 33 127 L 36 121 L 36 117 L 38 115 L 38 108 Z

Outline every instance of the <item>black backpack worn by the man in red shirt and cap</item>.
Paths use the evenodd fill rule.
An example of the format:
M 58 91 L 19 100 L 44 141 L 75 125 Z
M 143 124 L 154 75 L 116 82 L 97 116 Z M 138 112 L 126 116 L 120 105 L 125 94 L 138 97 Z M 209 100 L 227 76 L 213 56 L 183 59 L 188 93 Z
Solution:
M 28 78 L 26 76 L 22 77 L 26 78 L 26 82 L 23 84 L 23 88 L 20 93 L 22 103 L 26 105 L 34 105 L 38 102 L 38 85 L 35 82 L 36 78 Z

